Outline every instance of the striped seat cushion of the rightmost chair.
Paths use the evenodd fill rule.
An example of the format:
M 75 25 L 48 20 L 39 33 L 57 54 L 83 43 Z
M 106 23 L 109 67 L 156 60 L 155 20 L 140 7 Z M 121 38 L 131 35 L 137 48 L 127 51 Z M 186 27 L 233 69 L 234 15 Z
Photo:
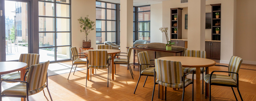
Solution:
M 206 74 L 204 80 L 206 83 L 210 82 L 210 75 Z M 228 75 L 221 75 L 221 74 L 212 74 L 211 76 L 211 83 L 219 83 L 219 84 L 228 84 L 228 85 L 237 85 L 236 80 L 231 78 Z

